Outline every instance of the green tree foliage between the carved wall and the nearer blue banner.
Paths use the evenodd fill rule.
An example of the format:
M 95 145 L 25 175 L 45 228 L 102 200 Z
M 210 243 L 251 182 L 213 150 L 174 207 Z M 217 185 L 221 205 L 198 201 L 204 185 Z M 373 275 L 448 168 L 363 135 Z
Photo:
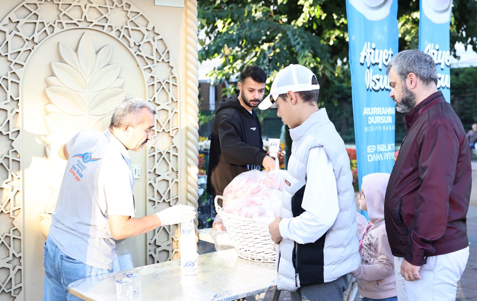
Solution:
M 316 2 L 316 1 L 315 1 Z M 222 58 L 210 75 L 224 81 L 252 63 L 270 78 L 283 66 L 302 64 L 320 84 L 341 70 L 347 56 L 346 12 L 341 1 L 199 1 L 199 60 Z M 270 85 L 270 78 L 268 84 Z

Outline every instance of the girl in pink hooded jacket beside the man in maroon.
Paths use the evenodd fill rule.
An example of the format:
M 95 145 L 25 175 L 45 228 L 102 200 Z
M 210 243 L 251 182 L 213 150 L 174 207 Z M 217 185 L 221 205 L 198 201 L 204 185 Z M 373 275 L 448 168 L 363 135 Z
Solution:
M 397 301 L 394 256 L 384 226 L 384 195 L 389 173 L 371 173 L 363 177 L 358 195 L 359 208 L 368 211 L 359 252 L 361 264 L 353 276 L 363 301 Z

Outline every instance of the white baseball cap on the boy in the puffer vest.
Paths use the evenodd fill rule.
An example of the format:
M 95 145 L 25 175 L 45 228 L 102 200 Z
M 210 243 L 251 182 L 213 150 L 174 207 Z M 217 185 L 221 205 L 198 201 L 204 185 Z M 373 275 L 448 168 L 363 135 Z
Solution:
M 313 72 L 305 66 L 291 64 L 290 66 L 283 68 L 277 73 L 277 75 L 275 75 L 271 84 L 270 94 L 260 102 L 259 109 L 266 110 L 268 108 L 276 108 L 277 105 L 275 104 L 275 101 L 278 99 L 279 95 L 287 93 L 288 91 L 299 92 L 319 90 L 319 84 L 311 84 L 313 76 L 315 76 Z

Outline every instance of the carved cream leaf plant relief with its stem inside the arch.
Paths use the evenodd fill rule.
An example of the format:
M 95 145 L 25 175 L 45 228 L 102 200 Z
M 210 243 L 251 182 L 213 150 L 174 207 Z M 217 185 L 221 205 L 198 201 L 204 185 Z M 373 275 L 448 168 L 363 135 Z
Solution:
M 108 65 L 112 47 L 106 45 L 97 52 L 93 41 L 83 33 L 78 47 L 73 50 L 60 42 L 58 51 L 61 62 L 52 62 L 52 76 L 45 80 L 48 88 L 46 96 L 51 103 L 44 106 L 46 135 L 46 155 L 52 162 L 53 173 L 62 174 L 63 164 L 57 164 L 59 146 L 67 142 L 82 129 L 105 130 L 109 125 L 111 113 L 124 98 L 126 91 L 121 89 L 124 80 L 118 78 L 121 66 Z M 51 213 L 56 205 L 60 182 L 52 175 L 49 186 L 52 196 L 46 204 L 46 212 Z

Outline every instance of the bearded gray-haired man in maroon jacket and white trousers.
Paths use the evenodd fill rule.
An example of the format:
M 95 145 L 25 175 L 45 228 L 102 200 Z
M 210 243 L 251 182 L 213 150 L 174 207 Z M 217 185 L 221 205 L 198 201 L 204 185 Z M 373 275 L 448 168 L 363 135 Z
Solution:
M 466 215 L 472 185 L 469 142 L 437 90 L 433 58 L 396 54 L 387 66 L 390 97 L 406 113 L 384 201 L 399 300 L 455 300 L 469 256 Z

